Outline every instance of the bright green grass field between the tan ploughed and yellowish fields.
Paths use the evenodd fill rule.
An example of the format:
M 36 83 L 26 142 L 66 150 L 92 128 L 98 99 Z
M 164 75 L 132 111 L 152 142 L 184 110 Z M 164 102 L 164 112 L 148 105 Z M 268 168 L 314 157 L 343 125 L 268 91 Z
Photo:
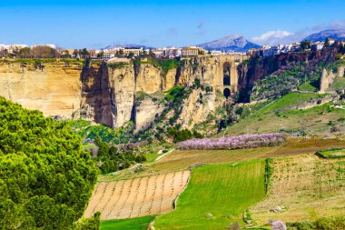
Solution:
M 172 213 L 160 215 L 155 229 L 225 229 L 265 195 L 263 160 L 194 168 Z M 205 215 L 212 214 L 211 218 Z

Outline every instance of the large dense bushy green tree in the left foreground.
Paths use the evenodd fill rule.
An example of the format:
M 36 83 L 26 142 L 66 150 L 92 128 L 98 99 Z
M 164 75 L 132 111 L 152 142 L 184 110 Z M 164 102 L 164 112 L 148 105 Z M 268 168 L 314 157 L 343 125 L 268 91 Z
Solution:
M 81 139 L 66 122 L 3 97 L 0 124 L 1 227 L 76 228 L 97 177 Z M 97 216 L 94 221 L 81 225 L 97 225 Z

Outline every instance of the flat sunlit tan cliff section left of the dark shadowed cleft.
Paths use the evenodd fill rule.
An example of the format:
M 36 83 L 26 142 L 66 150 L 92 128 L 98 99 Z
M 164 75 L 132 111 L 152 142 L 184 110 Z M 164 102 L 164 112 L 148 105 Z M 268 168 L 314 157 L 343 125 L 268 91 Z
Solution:
M 0 63 L 0 95 L 44 115 L 70 117 L 80 106 L 80 63 Z

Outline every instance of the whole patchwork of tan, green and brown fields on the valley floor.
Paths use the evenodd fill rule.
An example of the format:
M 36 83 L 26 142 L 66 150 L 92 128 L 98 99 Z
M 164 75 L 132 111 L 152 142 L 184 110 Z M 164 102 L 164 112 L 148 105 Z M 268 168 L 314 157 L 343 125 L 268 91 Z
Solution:
M 123 221 L 141 222 L 142 217 L 133 217 L 144 215 L 157 215 L 155 229 L 224 229 L 235 222 L 245 225 L 243 212 L 248 208 L 258 225 L 266 225 L 268 219 L 298 221 L 301 216 L 343 214 L 343 161 L 333 164 L 314 155 L 333 147 L 345 147 L 345 139 L 314 136 L 289 138 L 277 147 L 174 151 L 144 164 L 139 172 L 126 169 L 101 176 L 86 215 L 99 210 L 104 220 L 124 219 L 113 220 L 113 229 L 122 229 L 115 226 Z M 273 170 L 265 197 L 267 158 L 273 158 Z M 277 205 L 288 210 L 270 212 Z

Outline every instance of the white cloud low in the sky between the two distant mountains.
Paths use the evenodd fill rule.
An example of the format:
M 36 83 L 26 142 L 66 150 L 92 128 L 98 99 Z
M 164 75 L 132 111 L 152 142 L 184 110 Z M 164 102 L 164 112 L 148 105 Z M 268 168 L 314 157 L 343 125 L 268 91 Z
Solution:
M 293 38 L 293 35 L 294 33 L 286 30 L 275 30 L 268 31 L 260 36 L 253 36 L 251 37 L 251 41 L 259 45 L 277 45 L 290 40 L 287 38 Z

